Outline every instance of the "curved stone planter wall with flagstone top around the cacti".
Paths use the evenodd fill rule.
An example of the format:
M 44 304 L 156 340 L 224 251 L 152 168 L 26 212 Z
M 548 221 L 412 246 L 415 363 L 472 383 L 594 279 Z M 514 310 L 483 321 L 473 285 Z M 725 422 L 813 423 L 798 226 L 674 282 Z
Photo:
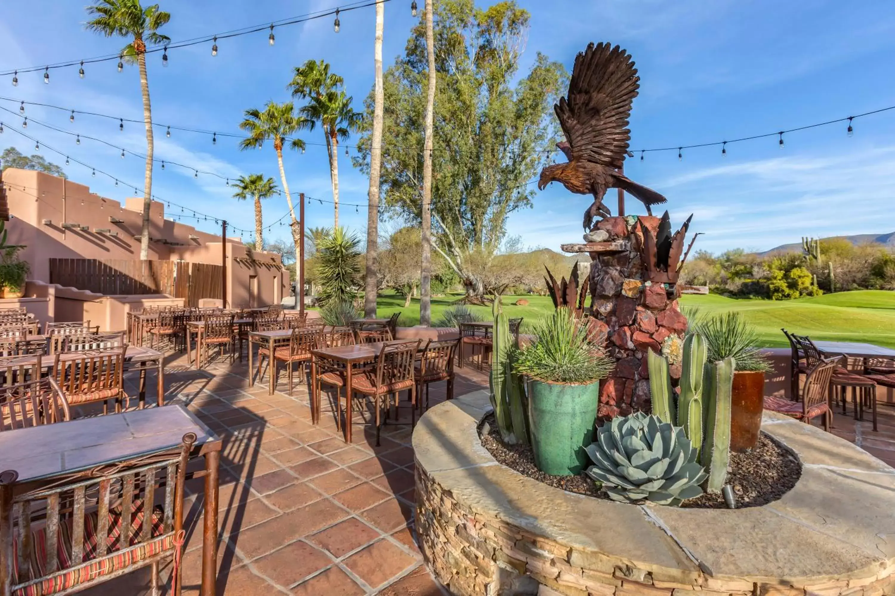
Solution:
M 895 591 L 895 469 L 820 429 L 766 415 L 802 477 L 740 510 L 634 506 L 499 465 L 476 425 L 485 391 L 432 407 L 413 432 L 416 529 L 462 595 L 882 594 Z

